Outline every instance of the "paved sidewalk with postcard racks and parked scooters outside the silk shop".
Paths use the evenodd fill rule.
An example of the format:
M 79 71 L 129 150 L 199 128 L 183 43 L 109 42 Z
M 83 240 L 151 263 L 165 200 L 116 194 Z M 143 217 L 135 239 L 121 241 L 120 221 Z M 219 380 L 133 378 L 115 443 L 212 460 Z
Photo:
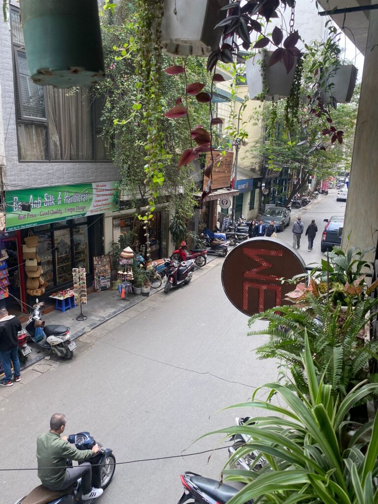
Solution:
M 195 280 L 196 277 L 206 273 L 208 269 L 207 268 L 208 264 L 216 260 L 217 258 L 218 258 L 217 263 L 214 263 L 214 265 L 212 265 L 216 266 L 216 264 L 218 264 L 219 261 L 222 261 L 222 258 L 220 258 L 219 256 L 210 256 L 210 255 L 208 255 L 207 257 L 206 266 L 204 266 L 203 268 L 198 268 L 197 266 L 195 266 L 195 273 L 193 275 L 193 280 Z M 149 297 L 154 296 L 158 292 L 163 291 L 164 284 L 165 281 L 163 280 L 163 283 L 161 287 L 159 287 L 159 289 L 151 289 Z M 174 294 L 174 291 L 172 291 L 172 294 Z M 134 306 L 138 305 L 140 302 L 149 299 L 149 297 L 145 297 L 142 295 L 135 295 L 132 293 L 129 293 L 127 297 L 130 300 L 121 299 L 118 290 L 109 289 L 109 290 L 103 290 L 101 292 L 93 292 L 92 294 L 88 295 L 88 304 L 82 305 L 82 312 L 83 315 L 87 317 L 87 320 L 85 321 L 76 320 L 76 317 L 80 315 L 79 306 L 71 308 L 65 311 L 64 313 L 56 310 L 50 311 L 49 313 L 43 315 L 43 320 L 45 321 L 46 326 L 52 324 L 59 324 L 69 327 L 71 330 L 72 339 L 75 340 L 76 338 L 79 338 L 83 334 L 92 331 L 92 329 L 101 326 L 102 324 L 109 321 L 113 317 L 116 317 L 119 313 L 129 310 L 130 308 L 133 308 Z M 23 327 L 25 327 L 25 325 L 26 323 L 23 324 Z M 29 343 L 29 345 L 32 349 L 32 352 L 29 355 L 27 361 L 24 364 L 21 364 L 22 370 L 44 359 L 46 355 L 50 353 L 48 350 L 46 351 L 42 349 L 36 343 Z

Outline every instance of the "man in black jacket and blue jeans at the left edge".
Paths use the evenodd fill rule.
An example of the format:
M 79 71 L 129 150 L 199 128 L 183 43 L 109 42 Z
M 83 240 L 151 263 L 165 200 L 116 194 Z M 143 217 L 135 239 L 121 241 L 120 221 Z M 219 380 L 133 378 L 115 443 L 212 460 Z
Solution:
M 0 360 L 5 378 L 0 382 L 3 387 L 12 387 L 12 367 L 15 372 L 15 382 L 21 380 L 20 361 L 18 358 L 18 332 L 22 326 L 14 315 L 9 315 L 7 308 L 0 308 Z

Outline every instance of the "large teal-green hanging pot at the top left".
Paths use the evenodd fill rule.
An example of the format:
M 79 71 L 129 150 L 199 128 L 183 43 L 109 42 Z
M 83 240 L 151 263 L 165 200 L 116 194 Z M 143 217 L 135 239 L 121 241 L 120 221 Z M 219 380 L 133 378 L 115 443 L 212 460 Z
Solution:
M 20 8 L 36 84 L 91 86 L 104 78 L 97 0 L 21 0 Z

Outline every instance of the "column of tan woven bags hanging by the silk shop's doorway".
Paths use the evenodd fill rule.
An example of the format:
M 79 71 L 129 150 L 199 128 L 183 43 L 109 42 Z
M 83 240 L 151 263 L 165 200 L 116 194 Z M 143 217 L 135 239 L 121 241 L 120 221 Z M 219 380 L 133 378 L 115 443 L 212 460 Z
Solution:
M 38 236 L 29 231 L 22 245 L 22 258 L 25 260 L 26 292 L 30 296 L 41 296 L 47 287 L 47 282 L 42 278 L 41 258 L 37 254 Z

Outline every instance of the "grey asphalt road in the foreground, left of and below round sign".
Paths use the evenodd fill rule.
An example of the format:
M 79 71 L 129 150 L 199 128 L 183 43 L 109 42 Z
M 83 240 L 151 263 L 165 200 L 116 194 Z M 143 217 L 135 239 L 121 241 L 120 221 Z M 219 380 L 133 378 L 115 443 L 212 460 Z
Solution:
M 219 410 L 247 400 L 277 371 L 256 360 L 252 350 L 265 338 L 246 337 L 247 317 L 222 290 L 222 262 L 81 337 L 72 361 L 44 359 L 21 384 L 2 388 L 0 468 L 35 466 L 35 439 L 54 412 L 67 414 L 68 433 L 90 430 L 118 461 L 179 455 L 202 434 L 250 413 Z M 213 449 L 218 440 L 205 438 L 188 451 Z M 180 472 L 219 475 L 226 450 L 210 463 L 208 456 L 118 466 L 99 504 L 174 504 Z M 0 472 L 2 504 L 36 484 L 35 472 Z

